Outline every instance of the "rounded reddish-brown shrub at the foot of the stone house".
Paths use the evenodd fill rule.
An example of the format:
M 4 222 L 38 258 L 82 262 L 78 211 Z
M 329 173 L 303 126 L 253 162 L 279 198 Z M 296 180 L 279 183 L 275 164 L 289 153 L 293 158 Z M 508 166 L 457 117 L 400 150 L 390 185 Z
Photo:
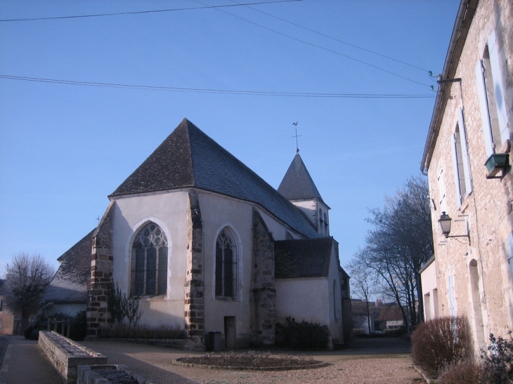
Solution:
M 472 336 L 466 317 L 439 317 L 420 324 L 412 333 L 412 357 L 436 378 L 450 364 L 473 357 Z

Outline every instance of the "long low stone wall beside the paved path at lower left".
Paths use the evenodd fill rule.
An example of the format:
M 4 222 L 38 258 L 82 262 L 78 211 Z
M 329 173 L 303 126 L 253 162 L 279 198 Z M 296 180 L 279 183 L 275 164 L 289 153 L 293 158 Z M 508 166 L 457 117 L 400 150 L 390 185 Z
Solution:
M 77 382 L 79 365 L 107 363 L 107 357 L 65 338 L 55 331 L 39 331 L 39 346 L 57 369 L 65 384 Z

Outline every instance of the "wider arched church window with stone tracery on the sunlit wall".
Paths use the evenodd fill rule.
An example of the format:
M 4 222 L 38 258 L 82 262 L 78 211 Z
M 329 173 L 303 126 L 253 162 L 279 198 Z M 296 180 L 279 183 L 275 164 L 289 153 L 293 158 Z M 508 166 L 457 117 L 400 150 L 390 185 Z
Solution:
M 134 239 L 131 293 L 133 296 L 167 293 L 167 239 L 155 223 L 145 225 Z

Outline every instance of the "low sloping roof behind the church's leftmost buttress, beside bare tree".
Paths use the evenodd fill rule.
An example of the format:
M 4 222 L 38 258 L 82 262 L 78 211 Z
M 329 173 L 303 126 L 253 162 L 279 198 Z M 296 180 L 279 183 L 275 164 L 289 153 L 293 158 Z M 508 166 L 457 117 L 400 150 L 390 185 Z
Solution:
M 87 284 L 91 277 L 91 249 L 93 232 L 57 260 L 60 266 L 46 289 L 43 303 L 87 303 Z

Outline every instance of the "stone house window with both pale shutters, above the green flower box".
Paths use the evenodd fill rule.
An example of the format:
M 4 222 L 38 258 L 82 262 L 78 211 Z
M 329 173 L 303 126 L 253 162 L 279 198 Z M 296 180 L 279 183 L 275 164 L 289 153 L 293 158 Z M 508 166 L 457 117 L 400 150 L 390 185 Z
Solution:
M 494 31 L 488 37 L 483 58 L 478 60 L 475 68 L 481 123 L 488 157 L 498 152 L 500 145 L 509 139 L 499 57 Z

